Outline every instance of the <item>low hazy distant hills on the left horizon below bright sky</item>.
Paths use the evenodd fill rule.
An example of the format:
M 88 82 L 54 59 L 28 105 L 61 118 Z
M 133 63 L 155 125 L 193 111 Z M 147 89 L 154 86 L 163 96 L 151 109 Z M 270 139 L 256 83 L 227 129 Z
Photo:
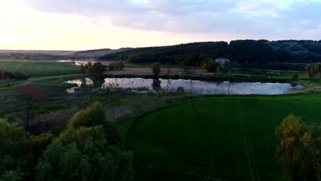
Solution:
M 123 49 L 93 49 L 86 51 L 60 50 L 0 50 L 0 60 L 58 60 L 58 59 L 93 59 Z

